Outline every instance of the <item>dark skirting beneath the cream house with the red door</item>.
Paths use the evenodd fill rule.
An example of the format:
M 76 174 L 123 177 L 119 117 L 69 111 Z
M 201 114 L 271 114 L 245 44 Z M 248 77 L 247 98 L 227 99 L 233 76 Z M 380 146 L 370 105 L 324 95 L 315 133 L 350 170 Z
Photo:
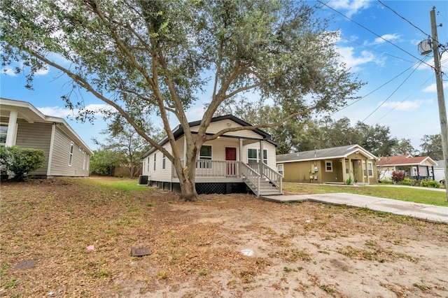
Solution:
M 148 181 L 149 186 L 159 187 L 162 190 L 181 193 L 180 183 L 163 181 Z M 196 183 L 197 194 L 253 194 L 246 183 Z

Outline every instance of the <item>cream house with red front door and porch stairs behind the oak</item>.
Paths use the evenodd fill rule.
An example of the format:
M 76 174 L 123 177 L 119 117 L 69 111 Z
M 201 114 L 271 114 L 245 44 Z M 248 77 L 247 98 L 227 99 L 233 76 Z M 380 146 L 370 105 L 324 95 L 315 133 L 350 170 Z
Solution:
M 200 121 L 190 122 L 190 129 L 198 131 Z M 248 127 L 247 122 L 233 115 L 212 118 L 207 134 L 214 134 L 228 127 Z M 184 157 L 186 142 L 183 127 L 173 130 L 176 148 Z M 160 141 L 172 152 L 167 138 Z M 214 141 L 203 144 L 196 164 L 196 191 L 198 194 L 250 192 L 255 195 L 281 194 L 281 175 L 275 169 L 277 143 L 260 129 L 228 132 Z M 260 152 L 263 152 L 262 156 Z M 152 148 L 143 159 L 143 176 L 148 184 L 165 190 L 180 192 L 179 178 L 172 163 L 159 150 Z

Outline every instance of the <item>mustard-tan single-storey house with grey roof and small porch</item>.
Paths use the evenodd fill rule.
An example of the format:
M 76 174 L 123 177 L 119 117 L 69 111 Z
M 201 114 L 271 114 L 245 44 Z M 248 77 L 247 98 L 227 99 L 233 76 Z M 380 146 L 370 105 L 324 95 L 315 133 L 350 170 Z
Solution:
M 377 183 L 377 157 L 359 145 L 277 155 L 284 182 Z

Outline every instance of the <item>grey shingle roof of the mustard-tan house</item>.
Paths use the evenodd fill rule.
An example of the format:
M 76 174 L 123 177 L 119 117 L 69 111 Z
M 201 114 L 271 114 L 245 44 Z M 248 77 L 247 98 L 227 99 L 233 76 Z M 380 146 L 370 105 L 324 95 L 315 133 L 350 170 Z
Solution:
M 334 159 L 334 158 L 342 158 L 355 153 L 356 151 L 360 152 L 360 154 L 368 157 L 370 159 L 376 159 L 372 153 L 368 152 L 361 146 L 347 145 L 335 148 L 326 148 L 326 149 L 317 149 L 317 150 L 309 150 L 297 153 L 289 153 L 283 155 L 276 156 L 276 162 L 302 162 L 304 160 L 318 160 L 318 159 Z

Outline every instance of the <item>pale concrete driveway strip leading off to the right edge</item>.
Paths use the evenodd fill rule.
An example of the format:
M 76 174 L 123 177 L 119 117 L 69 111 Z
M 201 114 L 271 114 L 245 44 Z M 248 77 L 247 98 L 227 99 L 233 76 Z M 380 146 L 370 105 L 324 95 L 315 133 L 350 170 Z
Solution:
M 448 207 L 433 206 L 427 204 L 399 201 L 396 199 L 384 199 L 370 197 L 361 194 L 297 194 L 260 197 L 268 201 L 280 203 L 297 201 L 316 201 L 319 203 L 346 205 L 352 207 L 369 208 L 374 211 L 384 211 L 397 215 L 407 215 L 430 222 L 442 222 L 448 224 Z

